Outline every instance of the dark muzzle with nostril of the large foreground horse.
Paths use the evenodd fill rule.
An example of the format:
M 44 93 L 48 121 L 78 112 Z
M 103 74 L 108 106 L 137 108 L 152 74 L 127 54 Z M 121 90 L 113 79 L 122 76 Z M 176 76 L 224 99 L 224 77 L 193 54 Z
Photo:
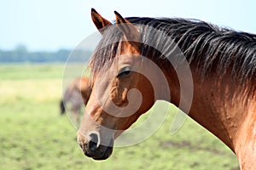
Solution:
M 106 160 L 112 154 L 113 139 L 101 141 L 100 135 L 97 133 L 90 133 L 89 138 L 85 138 L 83 134 L 78 133 L 78 142 L 84 155 L 94 160 Z

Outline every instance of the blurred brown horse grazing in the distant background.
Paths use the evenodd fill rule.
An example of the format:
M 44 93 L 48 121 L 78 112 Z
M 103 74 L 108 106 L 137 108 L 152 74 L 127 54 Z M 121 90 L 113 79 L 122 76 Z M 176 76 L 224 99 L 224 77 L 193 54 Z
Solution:
M 61 115 L 66 112 L 68 104 L 73 113 L 76 123 L 79 123 L 80 110 L 83 105 L 87 105 L 90 98 L 91 87 L 88 77 L 76 78 L 71 85 L 65 90 L 60 102 Z

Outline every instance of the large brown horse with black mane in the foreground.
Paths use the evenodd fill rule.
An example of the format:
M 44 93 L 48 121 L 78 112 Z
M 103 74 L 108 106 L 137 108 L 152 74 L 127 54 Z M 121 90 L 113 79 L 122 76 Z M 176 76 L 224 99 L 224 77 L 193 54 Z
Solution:
M 84 155 L 107 159 L 114 140 L 163 99 L 222 140 L 241 169 L 255 169 L 256 35 L 202 20 L 114 14 L 112 23 L 91 9 L 102 38 L 77 133 Z

